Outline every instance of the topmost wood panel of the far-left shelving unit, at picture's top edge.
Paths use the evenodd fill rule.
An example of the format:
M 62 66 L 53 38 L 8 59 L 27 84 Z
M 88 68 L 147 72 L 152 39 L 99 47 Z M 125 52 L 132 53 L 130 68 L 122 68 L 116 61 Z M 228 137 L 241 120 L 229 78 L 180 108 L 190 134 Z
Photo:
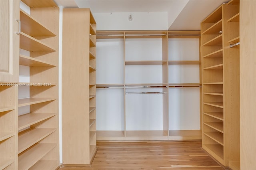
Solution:
M 58 7 L 53 0 L 21 0 L 30 8 Z

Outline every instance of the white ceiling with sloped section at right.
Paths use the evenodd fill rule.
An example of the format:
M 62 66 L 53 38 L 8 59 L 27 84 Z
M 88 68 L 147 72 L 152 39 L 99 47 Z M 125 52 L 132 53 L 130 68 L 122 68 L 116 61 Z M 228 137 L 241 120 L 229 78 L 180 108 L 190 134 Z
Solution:
M 229 0 L 55 0 L 64 8 L 103 12 L 167 12 L 169 30 L 200 30 L 200 22 Z

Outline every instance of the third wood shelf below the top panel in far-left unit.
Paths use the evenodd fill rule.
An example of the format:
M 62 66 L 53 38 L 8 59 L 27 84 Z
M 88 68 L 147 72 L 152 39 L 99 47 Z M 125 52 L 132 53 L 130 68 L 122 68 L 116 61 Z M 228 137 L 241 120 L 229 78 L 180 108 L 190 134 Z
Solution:
M 25 55 L 20 54 L 20 65 L 26 65 L 29 67 L 36 67 L 36 66 L 56 66 L 52 65 L 48 62 L 42 61 L 40 59 L 28 57 Z

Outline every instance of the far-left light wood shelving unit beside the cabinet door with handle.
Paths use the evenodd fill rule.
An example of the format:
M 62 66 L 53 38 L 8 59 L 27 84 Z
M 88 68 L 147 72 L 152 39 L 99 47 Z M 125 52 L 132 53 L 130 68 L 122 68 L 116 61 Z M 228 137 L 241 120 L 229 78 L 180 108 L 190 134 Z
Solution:
M 18 99 L 17 106 L 29 106 L 18 116 L 18 168 L 56 169 L 59 166 L 58 137 L 58 29 L 59 8 L 54 1 L 22 0 L 30 14 L 20 9 L 20 65 L 30 68 L 30 97 Z M 49 77 L 49 75 L 51 75 Z M 19 90 L 22 90 L 19 88 Z M 42 164 L 41 162 L 44 162 Z

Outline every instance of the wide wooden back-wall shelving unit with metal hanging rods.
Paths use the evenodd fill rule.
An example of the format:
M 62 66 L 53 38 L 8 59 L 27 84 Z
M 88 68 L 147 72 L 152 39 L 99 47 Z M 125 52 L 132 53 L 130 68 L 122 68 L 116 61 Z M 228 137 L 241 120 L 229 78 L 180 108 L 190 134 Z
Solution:
M 186 34 L 186 36 L 183 34 Z M 120 51 L 123 51 L 123 53 L 121 53 L 120 51 L 118 51 L 119 49 L 117 49 L 116 46 L 114 46 L 113 49 L 112 49 L 112 47 L 110 47 L 110 49 L 108 49 L 109 51 L 106 51 L 108 54 L 106 54 L 106 56 L 104 55 L 104 58 L 108 57 L 111 60 L 114 57 L 110 57 L 110 56 L 116 55 L 116 53 L 118 53 L 118 59 L 120 59 L 120 57 L 123 57 L 122 63 L 120 62 L 119 64 L 124 65 L 124 66 L 122 66 L 124 71 L 116 70 L 116 68 L 115 68 L 115 72 L 116 71 L 123 72 L 124 75 L 122 75 L 122 77 L 125 77 L 124 80 L 122 81 L 122 83 L 120 80 L 118 80 L 121 84 L 114 83 L 114 81 L 118 82 L 117 80 L 114 80 L 110 83 L 97 83 L 96 84 L 97 88 L 99 89 L 99 91 L 101 91 L 100 93 L 102 93 L 102 94 L 106 93 L 107 95 L 110 96 L 110 91 L 111 91 L 111 93 L 116 92 L 117 94 L 123 96 L 123 99 L 120 99 L 121 101 L 118 101 L 118 105 L 124 105 L 124 107 L 123 107 L 124 110 L 121 109 L 120 113 L 116 114 L 116 116 L 118 116 L 118 117 L 119 117 L 119 115 L 124 115 L 124 116 L 121 116 L 120 118 L 118 118 L 118 120 L 121 119 L 124 122 L 123 123 L 124 127 L 119 127 L 116 130 L 113 130 L 113 129 L 97 130 L 97 140 L 189 140 L 189 139 L 197 140 L 197 139 L 201 139 L 202 133 L 201 133 L 200 129 L 199 130 L 169 130 L 169 110 L 168 110 L 168 107 L 169 107 L 168 106 L 169 105 L 168 89 L 169 88 L 183 88 L 183 87 L 191 88 L 191 87 L 200 87 L 200 85 L 201 85 L 201 82 L 199 82 L 199 81 L 197 83 L 168 82 L 168 67 L 172 67 L 172 66 L 176 67 L 176 65 L 178 65 L 178 66 L 182 66 L 182 68 L 183 68 L 183 66 L 191 67 L 193 65 L 201 65 L 200 57 L 198 57 L 198 60 L 193 60 L 193 59 L 191 59 L 191 60 L 189 60 L 189 59 L 188 60 L 187 59 L 176 60 L 176 58 L 169 59 L 168 51 L 170 49 L 168 49 L 168 41 L 169 41 L 169 39 L 172 39 L 172 38 L 174 38 L 174 39 L 175 38 L 179 38 L 179 39 L 182 39 L 182 38 L 198 39 L 198 38 L 200 38 L 200 36 L 199 35 L 196 36 L 196 34 L 200 34 L 200 32 L 196 32 L 196 31 L 194 31 L 194 32 L 193 31 L 170 31 L 170 32 L 169 31 L 130 31 L 130 30 L 129 31 L 97 31 L 97 39 L 99 40 L 100 43 L 104 43 L 106 41 L 109 41 L 110 43 L 115 42 L 115 43 L 120 44 L 120 46 L 118 46 L 119 48 L 123 48 L 123 50 L 122 49 L 120 50 Z M 177 36 L 177 35 L 182 35 L 182 36 Z M 158 47 L 155 47 L 155 46 L 152 47 L 159 51 L 158 54 L 154 54 L 154 55 L 158 55 L 158 57 L 156 57 L 156 56 L 149 57 L 144 53 L 142 54 L 140 51 L 127 53 L 127 51 L 132 51 L 130 49 L 132 47 L 131 44 L 134 44 L 134 43 L 137 44 L 138 42 L 140 42 L 137 45 L 141 48 L 145 48 L 147 46 L 146 44 L 148 41 L 150 41 L 150 44 L 155 44 L 156 46 L 158 46 Z M 123 43 L 123 45 L 122 45 L 122 43 Z M 136 46 L 134 50 L 138 50 L 137 48 L 139 48 L 139 47 Z M 111 50 L 113 50 L 113 51 L 111 51 Z M 151 51 L 151 50 L 147 50 L 147 49 L 145 49 L 145 50 Z M 100 52 L 102 53 L 102 51 L 100 51 Z M 140 53 L 140 56 L 135 57 L 135 55 L 137 55 L 137 53 Z M 150 53 L 148 53 L 148 54 L 151 55 Z M 189 57 L 187 57 L 187 58 L 189 58 Z M 108 62 L 111 62 L 111 61 L 108 61 Z M 109 67 L 109 66 L 104 65 L 104 67 Z M 129 69 L 128 69 L 128 67 L 129 67 Z M 143 68 L 145 68 L 145 70 L 147 70 L 147 68 L 150 68 L 150 67 L 158 67 L 158 69 L 160 70 L 160 67 L 161 67 L 162 71 L 158 75 L 158 77 L 162 77 L 162 81 L 153 82 L 150 80 L 149 81 L 144 80 L 144 82 L 138 82 L 138 81 L 132 82 L 132 81 L 130 81 L 131 78 L 127 77 L 127 73 L 129 73 L 129 71 L 131 71 L 130 67 L 136 67 L 136 68 L 143 67 Z M 157 70 L 157 71 L 159 71 L 159 70 Z M 99 73 L 97 73 L 97 74 L 99 75 L 101 73 L 102 73 L 102 71 L 99 71 Z M 130 72 L 130 73 L 135 74 L 134 75 L 135 77 L 137 76 L 136 73 L 132 73 L 132 72 Z M 143 72 L 138 72 L 138 73 L 143 75 Z M 174 74 L 174 73 L 172 73 L 172 74 Z M 150 77 L 150 76 L 146 75 L 144 77 Z M 122 78 L 120 78 L 120 79 L 122 79 Z M 130 130 L 128 128 L 128 124 L 129 124 L 128 119 L 129 118 L 127 117 L 127 115 L 129 115 L 130 113 L 127 113 L 125 108 L 128 107 L 127 100 L 129 97 L 131 97 L 130 94 L 136 95 L 136 93 L 131 93 L 130 91 L 132 91 L 133 89 L 136 91 L 139 91 L 138 88 L 142 89 L 142 91 L 143 90 L 146 91 L 146 89 L 150 90 L 150 88 L 162 89 L 162 93 L 160 94 L 160 95 L 162 95 L 161 100 L 163 101 L 161 104 L 162 105 L 161 106 L 162 107 L 162 113 L 161 113 L 162 130 L 149 130 L 149 129 Z M 102 89 L 106 89 L 106 90 L 102 90 Z M 103 91 L 106 91 L 106 92 L 103 92 Z M 118 95 L 118 97 L 119 97 L 119 95 Z M 157 96 L 159 94 L 153 93 L 151 95 Z M 128 96 L 128 98 L 127 98 L 127 96 Z M 108 98 L 108 96 L 103 96 L 103 97 L 106 97 L 106 100 L 111 100 L 110 98 Z M 122 104 L 122 102 L 123 102 L 123 104 Z M 110 102 L 110 103 L 112 103 L 112 102 Z M 104 107 L 104 106 L 102 106 L 102 107 Z M 112 110 L 115 110 L 115 108 L 112 108 Z M 110 114 L 110 115 L 112 114 L 112 113 L 110 113 L 109 108 L 108 108 L 108 111 L 106 111 L 106 113 L 104 113 L 103 117 L 105 117 L 106 114 Z M 143 113 L 138 113 L 138 114 L 143 114 Z M 138 115 L 138 117 L 140 117 L 140 115 Z M 106 122 L 104 122 L 104 124 L 105 123 L 106 123 L 106 125 L 111 124 L 110 123 L 111 121 L 108 120 L 108 117 L 106 117 L 106 119 L 107 120 L 106 120 Z M 141 122 L 143 120 L 139 120 L 139 121 Z M 138 122 L 138 120 L 136 120 L 136 122 Z M 141 122 L 141 123 L 143 124 L 144 122 Z M 109 126 L 109 127 L 111 127 L 111 126 Z M 106 127 L 106 128 L 109 128 L 109 127 Z

